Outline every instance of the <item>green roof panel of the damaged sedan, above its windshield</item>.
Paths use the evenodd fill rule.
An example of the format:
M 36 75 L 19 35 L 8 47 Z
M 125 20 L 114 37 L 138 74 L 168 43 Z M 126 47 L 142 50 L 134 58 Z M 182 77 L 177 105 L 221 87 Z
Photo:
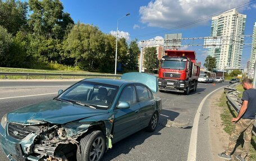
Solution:
M 108 84 L 108 85 L 113 85 L 113 86 L 122 86 L 124 84 L 135 83 L 135 82 L 132 82 L 132 81 L 127 81 L 127 80 L 104 79 L 104 78 L 90 78 L 90 79 L 84 79 L 82 81 L 90 81 L 90 82 L 96 82 L 96 83 L 99 83 L 99 84 Z

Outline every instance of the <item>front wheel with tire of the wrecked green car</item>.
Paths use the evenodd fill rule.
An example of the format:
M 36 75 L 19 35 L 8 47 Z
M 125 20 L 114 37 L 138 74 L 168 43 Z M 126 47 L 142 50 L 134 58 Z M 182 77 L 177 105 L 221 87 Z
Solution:
M 80 140 L 79 150 L 76 152 L 77 161 L 102 160 L 106 150 L 106 140 L 102 131 L 91 131 Z

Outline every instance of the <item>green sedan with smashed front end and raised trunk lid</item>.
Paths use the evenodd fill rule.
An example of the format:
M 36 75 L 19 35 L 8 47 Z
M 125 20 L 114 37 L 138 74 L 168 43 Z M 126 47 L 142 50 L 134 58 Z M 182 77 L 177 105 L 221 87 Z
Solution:
M 0 142 L 10 160 L 102 160 L 112 144 L 147 128 L 162 110 L 157 77 L 126 73 L 121 80 L 85 79 L 47 102 L 3 116 Z

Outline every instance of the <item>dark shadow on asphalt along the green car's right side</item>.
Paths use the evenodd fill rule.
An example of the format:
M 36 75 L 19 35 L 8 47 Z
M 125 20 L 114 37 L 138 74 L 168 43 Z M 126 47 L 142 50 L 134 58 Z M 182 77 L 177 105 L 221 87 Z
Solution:
M 126 137 L 125 139 L 114 144 L 113 148 L 109 149 L 107 153 L 104 154 L 103 160 L 112 160 L 121 154 L 128 154 L 132 149 L 135 149 L 135 146 L 143 144 L 148 137 L 153 135 L 161 135 L 159 131 L 164 128 L 164 126 L 162 126 L 162 122 L 166 119 L 171 119 L 173 121 L 179 116 L 179 114 L 180 113 L 162 109 L 161 116 L 158 120 L 158 126 L 154 132 L 148 132 L 143 129 L 130 135 L 129 137 Z

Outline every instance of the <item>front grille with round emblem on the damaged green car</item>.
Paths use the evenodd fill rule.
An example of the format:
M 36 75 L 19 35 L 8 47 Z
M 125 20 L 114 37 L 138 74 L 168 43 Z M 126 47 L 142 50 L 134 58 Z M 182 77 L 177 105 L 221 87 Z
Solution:
M 27 128 L 26 126 L 10 123 L 8 125 L 8 135 L 17 139 L 22 140 L 26 136 L 28 136 L 31 132 L 33 132 L 32 129 Z

